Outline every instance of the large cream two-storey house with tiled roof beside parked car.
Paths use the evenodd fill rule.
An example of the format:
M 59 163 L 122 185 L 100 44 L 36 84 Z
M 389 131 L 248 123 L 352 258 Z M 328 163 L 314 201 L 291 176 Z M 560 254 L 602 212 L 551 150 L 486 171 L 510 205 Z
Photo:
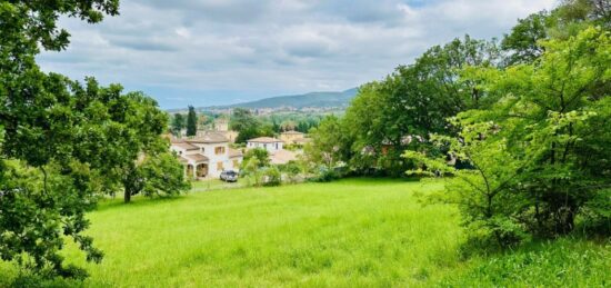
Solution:
M 221 133 L 209 132 L 190 139 L 172 139 L 170 149 L 177 153 L 188 177 L 218 178 L 223 170 L 239 170 L 242 153 L 229 148 Z

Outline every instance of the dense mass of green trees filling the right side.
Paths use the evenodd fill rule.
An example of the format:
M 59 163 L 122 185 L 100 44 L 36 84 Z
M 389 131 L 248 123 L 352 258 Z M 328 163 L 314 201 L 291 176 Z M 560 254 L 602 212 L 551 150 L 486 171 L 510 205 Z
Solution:
M 360 88 L 308 160 L 351 173 L 448 177 L 470 240 L 505 248 L 611 234 L 608 1 L 563 1 L 499 46 L 457 39 Z

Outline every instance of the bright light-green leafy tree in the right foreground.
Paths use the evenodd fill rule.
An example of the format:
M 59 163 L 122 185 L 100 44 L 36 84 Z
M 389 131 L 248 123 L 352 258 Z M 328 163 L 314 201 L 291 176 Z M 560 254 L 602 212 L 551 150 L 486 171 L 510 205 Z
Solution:
M 503 247 L 525 236 L 571 232 L 580 216 L 607 224 L 611 191 L 611 39 L 589 28 L 543 43 L 531 64 L 488 70 L 481 88 L 501 96 L 488 110 L 460 113 L 458 138 L 438 138 L 472 169 L 443 168 L 408 152 L 420 169 L 459 176 L 448 186 L 471 236 Z M 427 159 L 424 159 L 427 158 Z M 438 172 L 437 175 L 439 175 Z

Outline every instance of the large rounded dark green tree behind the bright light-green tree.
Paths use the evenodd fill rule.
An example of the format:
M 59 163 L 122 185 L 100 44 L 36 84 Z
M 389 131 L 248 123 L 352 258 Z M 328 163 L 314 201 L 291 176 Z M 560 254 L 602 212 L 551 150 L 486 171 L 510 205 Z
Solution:
M 353 139 L 351 168 L 398 177 L 409 168 L 401 158 L 405 149 L 439 153 L 428 142 L 430 133 L 455 132 L 448 117 L 495 100 L 479 89 L 481 80 L 462 78 L 462 69 L 500 62 L 494 42 L 467 36 L 432 47 L 413 64 L 362 86 L 343 120 Z

